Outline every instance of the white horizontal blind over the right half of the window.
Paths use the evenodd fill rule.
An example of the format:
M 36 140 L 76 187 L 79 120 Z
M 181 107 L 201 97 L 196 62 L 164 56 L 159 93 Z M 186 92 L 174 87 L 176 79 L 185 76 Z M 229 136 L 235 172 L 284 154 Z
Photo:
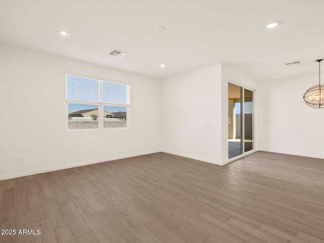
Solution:
M 103 81 L 103 100 L 104 103 L 129 105 L 129 85 L 116 84 Z

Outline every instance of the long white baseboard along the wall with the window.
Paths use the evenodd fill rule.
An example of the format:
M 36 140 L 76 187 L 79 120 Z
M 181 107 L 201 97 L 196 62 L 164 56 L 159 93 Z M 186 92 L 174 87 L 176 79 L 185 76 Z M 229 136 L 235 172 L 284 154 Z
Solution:
M 7 179 L 13 179 L 13 178 L 17 178 L 17 177 L 22 177 L 22 176 L 30 176 L 30 175 L 40 174 L 40 173 L 46 173 L 46 172 L 51 172 L 51 171 L 64 170 L 64 169 L 69 169 L 69 168 L 73 168 L 73 167 L 87 166 L 87 165 L 102 163 L 102 162 L 106 162 L 106 161 L 122 159 L 122 158 L 130 158 L 130 157 L 135 157 L 135 156 L 140 156 L 140 155 L 145 155 L 145 154 L 151 154 L 151 153 L 157 153 L 157 152 L 161 152 L 161 150 L 144 152 L 144 153 L 134 153 L 134 154 L 116 156 L 116 157 L 111 157 L 111 158 L 104 158 L 104 159 L 99 159 L 99 160 L 91 160 L 91 161 L 86 161 L 86 162 L 83 162 L 83 163 L 70 164 L 70 165 L 58 166 L 58 167 L 52 167 L 52 168 L 46 168 L 46 169 L 42 169 L 42 170 L 27 171 L 27 172 L 23 172 L 23 173 L 5 175 L 5 176 L 0 176 L 0 181 L 7 180 Z

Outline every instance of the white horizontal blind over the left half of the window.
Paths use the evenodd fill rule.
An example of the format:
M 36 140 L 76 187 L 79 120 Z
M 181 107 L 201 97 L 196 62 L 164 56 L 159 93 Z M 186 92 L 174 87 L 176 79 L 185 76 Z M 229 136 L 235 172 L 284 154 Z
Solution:
M 82 101 L 100 101 L 99 80 L 66 76 L 66 99 Z

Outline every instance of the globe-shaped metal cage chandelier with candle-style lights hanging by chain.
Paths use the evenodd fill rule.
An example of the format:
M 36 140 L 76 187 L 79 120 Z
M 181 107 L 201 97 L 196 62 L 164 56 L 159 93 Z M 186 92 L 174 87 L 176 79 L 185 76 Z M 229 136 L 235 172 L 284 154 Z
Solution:
M 313 108 L 324 108 L 324 85 L 320 85 L 320 61 L 322 60 L 316 60 L 318 62 L 318 85 L 309 88 L 304 94 L 304 101 Z

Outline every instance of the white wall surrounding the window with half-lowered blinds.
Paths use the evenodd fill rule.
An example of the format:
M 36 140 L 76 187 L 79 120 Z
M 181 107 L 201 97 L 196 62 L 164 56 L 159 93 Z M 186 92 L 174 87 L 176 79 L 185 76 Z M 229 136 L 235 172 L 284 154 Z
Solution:
M 129 83 L 130 129 L 67 131 L 65 72 Z M 0 45 L 0 104 L 0 180 L 161 148 L 156 79 Z

